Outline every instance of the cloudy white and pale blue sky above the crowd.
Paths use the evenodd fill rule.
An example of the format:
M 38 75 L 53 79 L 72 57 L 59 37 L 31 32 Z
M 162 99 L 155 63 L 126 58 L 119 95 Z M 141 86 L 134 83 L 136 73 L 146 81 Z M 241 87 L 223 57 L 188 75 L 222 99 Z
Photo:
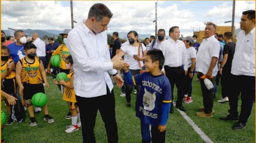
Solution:
M 107 32 L 155 33 L 155 2 L 158 29 L 169 31 L 179 26 L 184 36 L 204 29 L 204 22 L 217 25 L 232 20 L 233 1 L 73 1 L 74 20 L 81 23 L 89 8 L 103 3 L 113 13 Z M 236 1 L 235 26 L 239 28 L 242 12 L 255 10 L 255 1 Z M 76 26 L 76 23 L 74 23 Z M 70 1 L 1 1 L 1 29 L 71 29 Z

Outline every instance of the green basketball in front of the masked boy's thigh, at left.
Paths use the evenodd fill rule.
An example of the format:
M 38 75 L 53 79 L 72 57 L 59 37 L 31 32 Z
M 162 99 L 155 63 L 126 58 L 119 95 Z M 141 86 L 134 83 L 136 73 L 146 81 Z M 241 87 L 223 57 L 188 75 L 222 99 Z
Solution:
M 35 106 L 35 107 L 44 107 L 48 102 L 48 98 L 44 93 L 36 93 L 33 95 L 32 99 L 31 99 L 31 103 Z

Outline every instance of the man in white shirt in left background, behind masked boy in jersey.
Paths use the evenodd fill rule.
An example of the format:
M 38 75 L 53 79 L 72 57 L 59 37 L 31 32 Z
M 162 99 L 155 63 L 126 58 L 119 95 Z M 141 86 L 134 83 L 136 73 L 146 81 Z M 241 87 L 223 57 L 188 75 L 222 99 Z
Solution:
M 32 37 L 34 39 L 33 44 L 36 45 L 36 47 L 37 47 L 37 51 L 36 51 L 37 57 L 39 59 L 41 59 L 41 61 L 43 62 L 44 68 L 45 68 L 45 66 L 46 66 L 46 44 L 44 43 L 43 40 L 41 40 L 39 38 L 38 33 L 33 33 Z

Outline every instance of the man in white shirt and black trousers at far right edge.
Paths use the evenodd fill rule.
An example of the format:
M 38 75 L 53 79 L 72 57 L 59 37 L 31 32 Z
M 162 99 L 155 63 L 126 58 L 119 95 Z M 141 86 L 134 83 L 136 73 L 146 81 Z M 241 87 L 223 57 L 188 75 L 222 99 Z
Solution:
M 235 54 L 231 67 L 229 89 L 229 115 L 222 120 L 238 120 L 232 127 L 240 130 L 246 126 L 255 101 L 255 10 L 242 12 L 241 32 L 237 35 Z M 238 118 L 238 97 L 241 93 L 241 112 Z

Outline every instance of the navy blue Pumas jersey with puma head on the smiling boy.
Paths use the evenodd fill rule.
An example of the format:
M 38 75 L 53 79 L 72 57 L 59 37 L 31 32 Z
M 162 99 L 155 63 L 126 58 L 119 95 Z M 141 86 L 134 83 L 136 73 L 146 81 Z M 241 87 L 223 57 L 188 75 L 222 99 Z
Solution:
M 159 125 L 162 104 L 172 102 L 170 81 L 164 74 L 153 76 L 147 72 L 133 77 L 135 84 L 141 85 L 136 116 L 145 124 Z

